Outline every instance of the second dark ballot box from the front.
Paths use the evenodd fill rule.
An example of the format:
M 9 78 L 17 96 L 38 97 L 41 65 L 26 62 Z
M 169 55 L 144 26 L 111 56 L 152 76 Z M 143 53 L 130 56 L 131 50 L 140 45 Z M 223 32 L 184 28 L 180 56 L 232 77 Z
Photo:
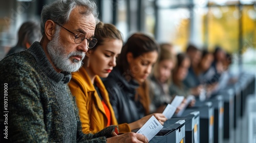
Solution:
M 164 127 L 185 120 L 185 140 L 188 143 L 198 143 L 200 140 L 200 112 L 194 111 L 182 117 L 173 117 L 164 122 Z

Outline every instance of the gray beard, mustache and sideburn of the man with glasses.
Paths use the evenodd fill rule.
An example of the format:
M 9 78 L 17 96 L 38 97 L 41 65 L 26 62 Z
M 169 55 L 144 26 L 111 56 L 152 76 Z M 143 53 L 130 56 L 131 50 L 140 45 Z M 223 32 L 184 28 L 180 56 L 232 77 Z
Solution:
M 85 53 L 82 51 L 74 51 L 70 54 L 65 53 L 65 47 L 62 46 L 59 40 L 60 27 L 56 28 L 56 32 L 53 35 L 53 39 L 47 44 L 47 51 L 49 56 L 58 69 L 68 72 L 75 72 L 82 66 L 82 59 L 85 57 Z M 82 59 L 70 59 L 72 56 L 81 56 Z

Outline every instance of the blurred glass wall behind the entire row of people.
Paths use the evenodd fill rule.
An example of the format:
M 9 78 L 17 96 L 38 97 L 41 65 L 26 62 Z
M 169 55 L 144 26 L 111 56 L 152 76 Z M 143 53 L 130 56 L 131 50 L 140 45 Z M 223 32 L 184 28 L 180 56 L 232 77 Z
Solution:
M 0 59 L 15 45 L 22 22 L 39 21 L 42 6 L 53 1 L 10 0 L 0 5 Z M 188 43 L 209 51 L 219 45 L 232 53 L 233 66 L 256 67 L 256 0 L 95 1 L 100 20 L 116 25 L 124 41 L 144 32 L 160 43 L 174 44 L 177 52 L 184 52 Z

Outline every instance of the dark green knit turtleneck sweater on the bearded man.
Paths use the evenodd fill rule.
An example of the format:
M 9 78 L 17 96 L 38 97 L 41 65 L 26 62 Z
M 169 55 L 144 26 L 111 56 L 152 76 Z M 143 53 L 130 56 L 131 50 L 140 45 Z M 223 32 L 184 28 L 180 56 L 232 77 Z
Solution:
M 71 74 L 57 73 L 39 42 L 4 58 L 0 67 L 1 113 L 4 84 L 8 84 L 9 141 L 106 142 L 105 137 L 96 137 L 111 136 L 113 126 L 95 135 L 81 132 L 75 100 L 67 86 Z

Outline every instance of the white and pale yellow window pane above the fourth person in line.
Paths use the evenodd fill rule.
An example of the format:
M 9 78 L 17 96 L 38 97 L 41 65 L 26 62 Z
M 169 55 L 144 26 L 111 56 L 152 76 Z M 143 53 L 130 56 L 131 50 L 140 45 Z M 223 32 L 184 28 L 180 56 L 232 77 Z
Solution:
M 177 14 L 179 13 L 179 14 Z M 159 42 L 169 42 L 183 51 L 189 40 L 189 11 L 186 8 L 159 10 Z

